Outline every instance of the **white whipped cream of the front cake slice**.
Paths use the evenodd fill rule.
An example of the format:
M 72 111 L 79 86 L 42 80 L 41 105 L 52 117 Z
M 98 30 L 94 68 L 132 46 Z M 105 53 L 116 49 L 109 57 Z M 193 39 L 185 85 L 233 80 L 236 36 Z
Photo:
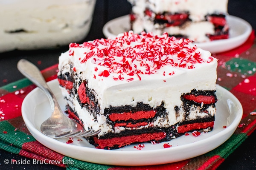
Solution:
M 126 37 L 124 35 L 119 35 L 119 37 L 116 38 L 116 41 L 119 42 L 119 40 L 122 40 L 124 37 L 129 39 L 133 37 L 133 35 L 134 34 L 132 31 L 130 31 L 128 34 L 126 34 Z M 143 36 L 141 37 L 141 39 L 143 39 Z M 161 37 L 163 38 L 163 41 L 167 39 L 166 35 Z M 104 40 L 102 39 L 102 41 Z M 176 44 L 182 42 L 182 40 L 176 39 L 174 41 Z M 140 42 L 137 41 L 130 43 L 133 49 L 135 49 L 134 46 L 139 44 Z M 123 47 L 128 46 L 129 45 L 127 43 L 123 43 Z M 107 47 L 111 48 L 111 45 L 107 45 Z M 84 81 L 87 79 L 87 86 L 96 92 L 95 97 L 100 105 L 100 113 L 96 117 L 97 121 L 92 121 L 92 119 L 94 119 L 93 116 L 87 114 L 86 109 L 81 108 L 79 102 L 76 100 L 77 96 L 72 96 L 72 99 L 70 96 L 67 96 L 67 93 L 63 94 L 68 100 L 72 101 L 72 104 L 70 105 L 73 105 L 76 112 L 79 114 L 79 117 L 83 120 L 85 127 L 92 126 L 94 130 L 104 127 L 99 135 L 102 135 L 109 130 L 113 130 L 111 125 L 105 123 L 106 117 L 104 115 L 104 109 L 109 108 L 110 106 L 135 106 L 137 102 L 143 102 L 155 108 L 163 101 L 165 103 L 164 107 L 168 112 L 168 121 L 163 118 L 159 118 L 159 120 L 155 121 L 154 126 L 160 127 L 174 125 L 184 119 L 189 120 L 195 119 L 196 117 L 203 118 L 205 115 L 198 113 L 197 111 L 193 112 L 191 116 L 187 118 L 185 113 L 180 113 L 180 116 L 176 117 L 174 108 L 175 106 L 181 107 L 182 101 L 180 100 L 180 96 L 184 93 L 189 93 L 192 89 L 215 90 L 215 82 L 217 78 L 217 59 L 211 57 L 209 51 L 196 48 L 196 46 L 193 46 L 191 42 L 185 43 L 184 47 L 189 49 L 195 48 L 195 51 L 192 53 L 187 53 L 186 57 L 195 55 L 195 53 L 198 54 L 200 52 L 199 54 L 201 60 L 200 62 L 195 62 L 193 64 L 194 68 L 189 69 L 187 66 L 174 67 L 166 64 L 162 65 L 160 69 L 155 70 L 152 69 L 154 68 L 154 65 L 151 65 L 150 69 L 152 69 L 154 73 L 150 75 L 138 74 L 139 76 L 137 76 L 137 74 L 130 76 L 124 73 L 119 74 L 116 72 L 111 72 L 110 68 L 100 65 L 103 63 L 105 57 L 98 57 L 97 54 L 99 53 L 96 52 L 84 62 L 83 59 L 85 58 L 86 54 L 91 51 L 105 49 L 106 46 L 104 45 L 99 45 L 98 48 L 82 47 L 82 45 L 80 45 L 80 47 L 71 47 L 69 51 L 61 54 L 59 58 L 60 72 L 58 74 L 64 74 L 73 69 L 78 74 L 78 76 L 75 76 L 75 81 L 79 81 L 80 79 Z M 183 50 L 186 51 L 186 48 L 183 48 Z M 161 50 L 161 48 L 158 50 Z M 116 62 L 123 63 L 123 56 L 113 56 L 113 58 L 116 59 Z M 177 54 L 169 55 L 169 58 L 174 59 L 177 63 L 180 62 L 180 60 L 177 59 L 179 58 L 177 57 Z M 128 59 L 127 61 L 130 62 L 131 65 L 132 63 L 137 65 L 137 69 L 146 71 L 145 67 L 140 66 L 140 63 L 143 60 L 133 60 L 133 62 L 131 62 L 131 60 L 132 59 Z M 105 59 L 105 62 L 106 61 L 108 60 Z M 189 65 L 189 62 L 187 65 Z M 108 77 L 99 76 L 101 71 L 104 70 L 108 71 Z M 115 79 L 118 77 L 118 75 L 122 75 L 123 79 Z M 133 80 L 128 81 L 131 78 L 133 78 Z M 77 88 L 79 88 L 78 86 L 79 85 L 77 85 Z M 209 114 L 213 116 L 215 112 L 209 110 Z M 116 128 L 116 130 L 120 130 L 120 128 Z

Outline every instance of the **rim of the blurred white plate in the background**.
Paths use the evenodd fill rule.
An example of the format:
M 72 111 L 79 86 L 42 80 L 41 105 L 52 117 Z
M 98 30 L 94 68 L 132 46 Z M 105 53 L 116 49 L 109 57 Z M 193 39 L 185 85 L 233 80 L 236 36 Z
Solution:
M 111 25 L 114 25 L 122 20 L 128 20 L 129 14 L 128 15 L 123 15 L 121 17 L 117 17 L 114 18 L 112 20 L 109 20 L 107 23 L 105 23 L 105 25 L 103 26 L 102 32 L 104 34 L 104 36 L 106 38 L 108 37 L 116 37 L 117 35 L 112 34 L 111 32 L 108 31 L 109 28 L 111 28 Z M 203 48 L 204 50 L 210 51 L 211 53 L 221 53 L 221 52 L 225 52 L 225 51 L 229 51 L 232 50 L 236 47 L 238 47 L 239 45 L 242 45 L 250 36 L 251 32 L 252 32 L 252 26 L 250 25 L 250 23 L 248 23 L 247 21 L 245 21 L 242 18 L 233 16 L 233 15 L 227 15 L 227 21 L 229 20 L 235 20 L 236 22 L 240 22 L 241 26 L 244 26 L 246 29 L 244 31 L 243 34 L 239 34 L 236 37 L 231 37 L 228 39 L 224 39 L 224 40 L 214 40 L 211 42 L 195 42 L 194 44 L 197 45 L 199 48 Z M 125 24 L 127 24 L 129 26 L 129 22 L 123 22 Z M 123 24 L 123 26 L 126 28 L 126 25 Z M 230 28 L 233 29 L 233 28 Z M 234 45 L 230 45 L 230 43 L 232 43 L 233 41 L 235 41 L 236 43 Z M 217 47 L 218 48 L 217 48 Z M 217 49 L 211 49 L 212 47 L 217 48 Z

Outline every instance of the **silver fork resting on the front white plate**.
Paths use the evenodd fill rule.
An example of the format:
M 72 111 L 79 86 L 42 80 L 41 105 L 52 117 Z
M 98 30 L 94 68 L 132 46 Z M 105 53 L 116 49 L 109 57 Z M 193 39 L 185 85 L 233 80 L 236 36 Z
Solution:
M 95 132 L 85 130 L 78 122 L 64 115 L 56 97 L 45 82 L 40 70 L 34 64 L 26 59 L 20 59 L 17 63 L 17 68 L 20 73 L 38 86 L 50 101 L 52 115 L 41 124 L 42 133 L 51 138 L 65 138 L 94 136 L 100 132 L 100 129 Z

